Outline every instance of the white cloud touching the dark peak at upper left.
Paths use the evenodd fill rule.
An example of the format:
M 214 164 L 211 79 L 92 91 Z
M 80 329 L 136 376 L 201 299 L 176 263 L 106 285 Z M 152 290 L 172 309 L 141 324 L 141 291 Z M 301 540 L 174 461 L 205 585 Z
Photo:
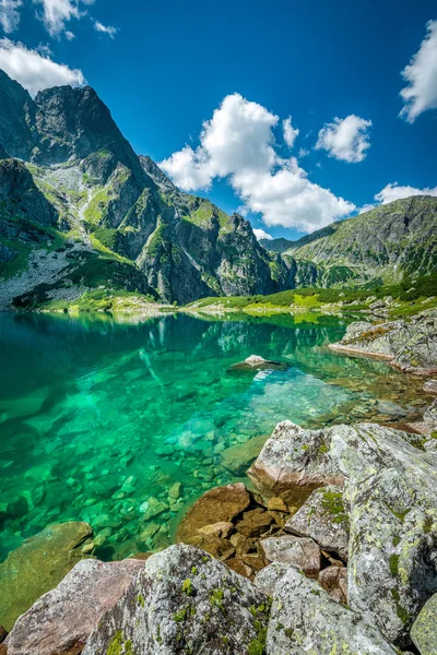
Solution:
M 0 39 L 0 69 L 20 82 L 33 96 L 50 86 L 81 86 L 86 82 L 82 71 L 57 63 L 47 55 L 29 50 L 9 38 Z

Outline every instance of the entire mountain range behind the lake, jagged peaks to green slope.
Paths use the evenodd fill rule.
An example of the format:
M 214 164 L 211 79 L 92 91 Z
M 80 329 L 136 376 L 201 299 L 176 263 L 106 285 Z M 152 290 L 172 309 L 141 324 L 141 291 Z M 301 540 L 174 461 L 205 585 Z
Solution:
M 0 309 L 101 287 L 185 303 L 423 274 L 436 226 L 437 199 L 416 196 L 259 243 L 138 156 L 93 88 L 33 99 L 0 71 Z

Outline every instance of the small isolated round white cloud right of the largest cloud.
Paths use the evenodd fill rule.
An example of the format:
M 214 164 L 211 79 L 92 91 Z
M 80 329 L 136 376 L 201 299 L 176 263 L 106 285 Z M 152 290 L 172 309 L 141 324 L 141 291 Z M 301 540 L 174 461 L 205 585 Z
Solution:
M 346 118 L 334 118 L 319 132 L 316 150 L 324 150 L 330 157 L 355 164 L 363 162 L 370 147 L 368 129 L 371 120 L 351 114 Z

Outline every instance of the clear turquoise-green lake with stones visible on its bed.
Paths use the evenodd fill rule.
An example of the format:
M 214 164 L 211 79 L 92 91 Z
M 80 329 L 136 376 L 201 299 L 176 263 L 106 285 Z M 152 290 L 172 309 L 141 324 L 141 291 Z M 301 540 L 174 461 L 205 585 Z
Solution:
M 91 523 L 103 559 L 168 545 L 189 503 L 246 479 L 280 420 L 414 417 L 418 380 L 328 349 L 346 324 L 0 314 L 0 561 L 70 520 Z M 231 370 L 252 354 L 290 368 Z

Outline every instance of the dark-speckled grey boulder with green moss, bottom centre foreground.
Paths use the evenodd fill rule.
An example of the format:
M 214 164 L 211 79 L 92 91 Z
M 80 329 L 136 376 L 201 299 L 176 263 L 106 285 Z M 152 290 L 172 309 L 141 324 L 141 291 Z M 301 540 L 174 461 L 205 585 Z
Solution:
M 261 653 L 269 608 L 261 591 L 202 550 L 170 546 L 146 561 L 83 655 Z

